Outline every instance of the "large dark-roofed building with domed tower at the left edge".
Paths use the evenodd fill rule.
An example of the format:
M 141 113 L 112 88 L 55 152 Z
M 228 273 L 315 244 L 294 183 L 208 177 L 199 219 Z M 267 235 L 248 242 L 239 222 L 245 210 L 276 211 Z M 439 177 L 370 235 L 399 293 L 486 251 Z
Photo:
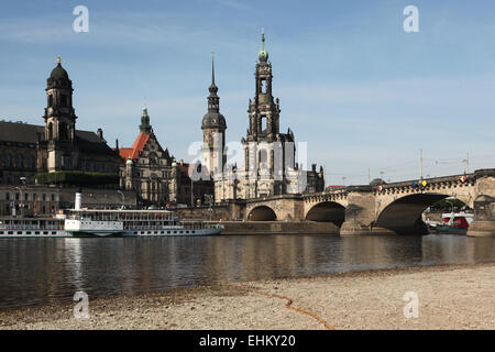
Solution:
M 34 184 L 40 173 L 118 173 L 121 161 L 97 133 L 76 129 L 73 81 L 57 58 L 46 81 L 44 125 L 0 121 L 0 185 Z

